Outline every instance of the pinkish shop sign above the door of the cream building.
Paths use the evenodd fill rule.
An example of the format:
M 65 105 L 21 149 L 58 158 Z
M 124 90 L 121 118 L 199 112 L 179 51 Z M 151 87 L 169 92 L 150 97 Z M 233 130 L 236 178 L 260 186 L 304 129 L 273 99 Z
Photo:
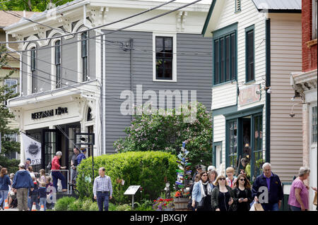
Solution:
M 260 85 L 252 85 L 252 86 L 240 89 L 238 104 L 240 106 L 243 106 L 245 104 L 259 102 L 260 99 L 261 99 Z

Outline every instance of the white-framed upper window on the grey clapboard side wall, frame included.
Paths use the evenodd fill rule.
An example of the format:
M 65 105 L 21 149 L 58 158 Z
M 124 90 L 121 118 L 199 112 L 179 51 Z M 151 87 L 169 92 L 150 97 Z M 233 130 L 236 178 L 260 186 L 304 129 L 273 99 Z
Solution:
M 153 81 L 177 82 L 177 35 L 153 33 Z

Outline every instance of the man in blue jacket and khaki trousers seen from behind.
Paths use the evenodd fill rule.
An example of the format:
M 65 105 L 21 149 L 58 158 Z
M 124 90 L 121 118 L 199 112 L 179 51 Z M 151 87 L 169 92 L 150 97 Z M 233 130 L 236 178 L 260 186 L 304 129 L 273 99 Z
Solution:
M 28 189 L 30 188 L 33 191 L 34 184 L 23 163 L 19 164 L 19 171 L 13 178 L 12 188 L 16 190 L 19 211 L 28 211 Z

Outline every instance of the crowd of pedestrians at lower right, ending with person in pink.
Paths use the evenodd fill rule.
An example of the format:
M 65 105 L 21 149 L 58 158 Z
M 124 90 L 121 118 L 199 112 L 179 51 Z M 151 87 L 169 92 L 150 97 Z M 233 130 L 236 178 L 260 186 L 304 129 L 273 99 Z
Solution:
M 244 173 L 234 176 L 235 169 L 232 167 L 226 169 L 225 177 L 218 175 L 214 166 L 208 166 L 208 171 L 196 166 L 194 183 L 190 186 L 192 210 L 247 212 L 252 210 L 254 203 L 260 203 L 264 211 L 278 211 L 283 200 L 281 180 L 271 171 L 271 164 L 263 164 L 262 169 L 263 173 L 254 179 L 251 186 Z M 304 182 L 308 176 L 310 169 L 301 167 L 298 178 L 293 181 L 288 199 L 292 211 L 310 209 L 310 187 Z M 312 190 L 317 192 L 317 188 L 312 187 Z

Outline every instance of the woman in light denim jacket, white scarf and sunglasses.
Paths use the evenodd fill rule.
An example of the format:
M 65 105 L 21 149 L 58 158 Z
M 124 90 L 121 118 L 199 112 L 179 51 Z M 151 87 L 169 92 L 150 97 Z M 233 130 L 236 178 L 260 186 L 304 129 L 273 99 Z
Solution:
M 211 211 L 211 193 L 213 185 L 208 182 L 208 173 L 200 173 L 200 181 L 194 183 L 192 190 L 192 207 L 197 211 Z

